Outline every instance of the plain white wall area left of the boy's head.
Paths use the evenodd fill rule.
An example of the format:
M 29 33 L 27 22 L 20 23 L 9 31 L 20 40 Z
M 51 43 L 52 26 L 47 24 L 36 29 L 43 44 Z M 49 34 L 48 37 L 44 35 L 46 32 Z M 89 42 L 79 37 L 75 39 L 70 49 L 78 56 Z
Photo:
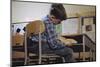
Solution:
M 12 2 L 12 23 L 41 19 L 49 13 L 50 4 Z

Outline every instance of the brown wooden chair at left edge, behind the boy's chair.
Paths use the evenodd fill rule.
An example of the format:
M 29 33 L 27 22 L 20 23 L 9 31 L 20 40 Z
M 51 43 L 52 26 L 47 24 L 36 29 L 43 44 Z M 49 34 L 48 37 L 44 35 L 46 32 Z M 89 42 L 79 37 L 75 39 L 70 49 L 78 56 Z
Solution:
M 15 34 L 12 36 L 12 63 L 15 65 L 17 65 L 19 62 L 24 63 L 25 53 L 23 42 L 23 35 Z

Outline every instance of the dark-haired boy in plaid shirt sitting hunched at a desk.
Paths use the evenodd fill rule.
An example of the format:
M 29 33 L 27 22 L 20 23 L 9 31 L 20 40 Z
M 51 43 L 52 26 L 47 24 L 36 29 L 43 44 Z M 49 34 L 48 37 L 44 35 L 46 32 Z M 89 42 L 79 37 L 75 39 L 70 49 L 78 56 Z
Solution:
M 43 52 L 53 51 L 53 53 L 64 57 L 65 62 L 74 62 L 73 50 L 62 43 L 56 34 L 55 25 L 60 24 L 61 21 L 66 20 L 66 11 L 62 4 L 52 4 L 50 13 L 43 22 L 45 24 L 45 32 L 42 34 L 42 40 L 46 41 L 46 45 L 42 45 Z M 38 41 L 38 36 L 31 37 L 32 41 Z M 49 50 L 48 50 L 49 49 Z

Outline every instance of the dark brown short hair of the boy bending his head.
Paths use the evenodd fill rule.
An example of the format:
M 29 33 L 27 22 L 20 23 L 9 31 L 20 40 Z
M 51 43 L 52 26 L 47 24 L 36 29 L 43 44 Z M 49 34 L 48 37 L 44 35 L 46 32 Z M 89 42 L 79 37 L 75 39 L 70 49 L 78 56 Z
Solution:
M 66 20 L 66 11 L 62 4 L 54 3 L 51 6 L 50 15 L 54 15 L 57 19 Z

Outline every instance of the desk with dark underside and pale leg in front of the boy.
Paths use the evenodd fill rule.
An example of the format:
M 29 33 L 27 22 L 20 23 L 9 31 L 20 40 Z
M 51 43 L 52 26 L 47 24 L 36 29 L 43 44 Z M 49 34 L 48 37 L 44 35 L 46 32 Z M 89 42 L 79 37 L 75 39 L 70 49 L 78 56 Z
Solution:
M 79 52 L 79 59 L 80 52 L 83 52 L 82 61 L 86 61 L 85 52 L 90 51 L 90 48 L 86 46 L 84 34 L 62 35 L 62 37 L 76 40 L 77 43 L 69 47 L 72 48 L 74 52 Z

